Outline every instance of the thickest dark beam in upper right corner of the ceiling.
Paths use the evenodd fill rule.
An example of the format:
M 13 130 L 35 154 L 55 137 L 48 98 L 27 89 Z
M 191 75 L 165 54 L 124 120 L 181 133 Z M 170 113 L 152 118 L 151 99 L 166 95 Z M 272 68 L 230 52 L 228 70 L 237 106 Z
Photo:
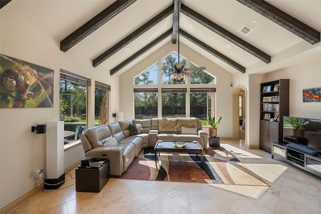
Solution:
M 253 11 L 261 14 L 267 19 L 275 22 L 279 26 L 285 28 L 289 32 L 302 38 L 310 44 L 320 42 L 320 32 L 295 19 L 294 17 L 284 13 L 278 8 L 270 5 L 265 1 L 257 0 L 236 0 Z M 307 3 L 308 4 L 308 3 Z

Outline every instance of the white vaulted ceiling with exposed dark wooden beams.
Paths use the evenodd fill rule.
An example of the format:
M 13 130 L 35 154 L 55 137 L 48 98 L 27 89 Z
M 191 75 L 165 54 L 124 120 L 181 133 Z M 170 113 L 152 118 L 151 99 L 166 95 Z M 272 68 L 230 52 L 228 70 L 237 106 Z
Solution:
M 111 75 L 167 43 L 177 50 L 178 31 L 180 43 L 232 74 L 321 57 L 319 0 L 13 0 L 1 7 L 11 4 L 23 4 L 21 16 L 59 41 L 61 51 L 78 52 Z M 253 29 L 247 36 L 244 25 Z

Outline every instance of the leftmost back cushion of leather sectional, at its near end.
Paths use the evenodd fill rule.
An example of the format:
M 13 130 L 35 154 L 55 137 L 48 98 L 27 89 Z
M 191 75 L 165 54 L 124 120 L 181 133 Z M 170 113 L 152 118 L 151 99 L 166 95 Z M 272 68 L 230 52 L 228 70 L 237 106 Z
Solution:
M 107 125 L 87 129 L 85 135 L 93 148 L 103 146 L 105 142 L 111 139 L 111 132 Z

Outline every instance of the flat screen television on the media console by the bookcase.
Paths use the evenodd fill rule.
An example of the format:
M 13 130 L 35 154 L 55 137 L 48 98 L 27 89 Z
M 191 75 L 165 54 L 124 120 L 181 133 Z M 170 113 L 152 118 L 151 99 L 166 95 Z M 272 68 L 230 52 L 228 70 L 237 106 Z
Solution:
M 299 129 L 291 125 L 301 123 Z M 309 119 L 301 117 L 283 116 L 283 141 L 288 143 L 301 144 L 315 151 L 321 151 L 321 119 Z

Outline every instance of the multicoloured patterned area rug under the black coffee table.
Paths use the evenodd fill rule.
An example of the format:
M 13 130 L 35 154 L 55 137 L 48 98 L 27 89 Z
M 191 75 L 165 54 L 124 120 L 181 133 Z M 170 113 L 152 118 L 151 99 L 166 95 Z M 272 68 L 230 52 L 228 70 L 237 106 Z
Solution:
M 124 179 L 164 180 L 177 182 L 222 183 L 232 185 L 268 186 L 245 164 L 223 147 L 208 147 L 203 154 L 203 169 L 200 155 L 161 152 L 155 165 L 152 147 L 142 149 L 134 158 Z

